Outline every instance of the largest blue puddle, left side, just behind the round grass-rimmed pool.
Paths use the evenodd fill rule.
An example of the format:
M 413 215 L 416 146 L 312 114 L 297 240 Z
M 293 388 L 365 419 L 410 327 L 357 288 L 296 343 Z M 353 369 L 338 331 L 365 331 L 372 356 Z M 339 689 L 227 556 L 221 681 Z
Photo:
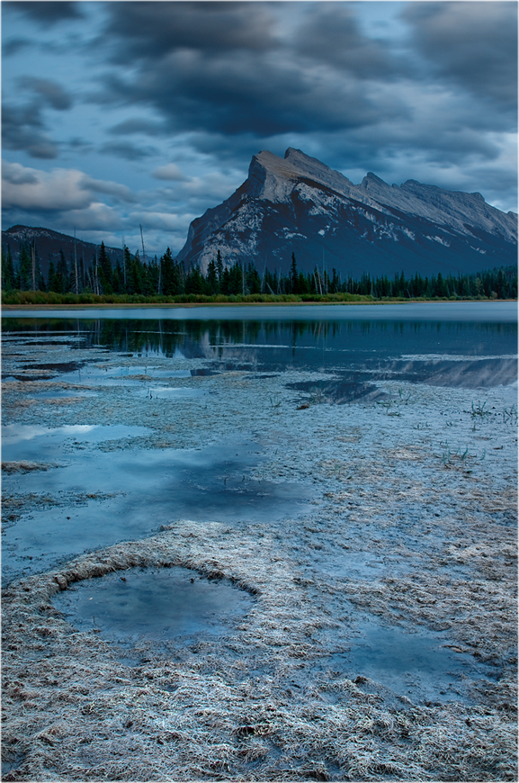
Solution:
M 104 428 L 115 430 L 116 428 Z M 85 439 L 89 433 L 78 435 Z M 45 442 L 43 438 L 40 438 Z M 152 535 L 161 525 L 182 519 L 226 524 L 278 522 L 309 510 L 312 490 L 298 483 L 255 480 L 260 461 L 255 442 L 208 446 L 201 450 L 135 449 L 103 452 L 72 447 L 63 460 L 31 441 L 10 446 L 9 460 L 61 458 L 58 469 L 7 475 L 4 491 L 49 496 L 58 505 L 27 501 L 24 515 L 3 531 L 4 580 L 40 572 L 85 551 Z M 48 441 L 47 441 L 48 443 Z M 94 446 L 94 444 L 91 444 Z M 4 460 L 7 457 L 4 455 Z M 182 530 L 182 522 L 179 522 Z

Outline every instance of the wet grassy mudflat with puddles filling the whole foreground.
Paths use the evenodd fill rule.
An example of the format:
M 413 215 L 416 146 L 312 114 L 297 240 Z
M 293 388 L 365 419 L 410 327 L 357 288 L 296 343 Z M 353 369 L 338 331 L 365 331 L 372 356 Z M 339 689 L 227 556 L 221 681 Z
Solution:
M 516 779 L 508 343 L 204 329 L 4 330 L 3 779 Z

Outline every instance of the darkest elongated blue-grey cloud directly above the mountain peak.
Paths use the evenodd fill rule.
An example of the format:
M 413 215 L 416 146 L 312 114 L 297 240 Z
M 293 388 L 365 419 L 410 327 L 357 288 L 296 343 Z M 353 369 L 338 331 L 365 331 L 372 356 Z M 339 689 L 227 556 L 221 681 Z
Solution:
M 105 85 L 114 99 L 152 104 L 175 131 L 269 136 L 351 128 L 379 116 L 357 85 L 251 52 L 211 58 L 175 52 L 158 66 L 142 67 L 132 81 L 111 76 Z

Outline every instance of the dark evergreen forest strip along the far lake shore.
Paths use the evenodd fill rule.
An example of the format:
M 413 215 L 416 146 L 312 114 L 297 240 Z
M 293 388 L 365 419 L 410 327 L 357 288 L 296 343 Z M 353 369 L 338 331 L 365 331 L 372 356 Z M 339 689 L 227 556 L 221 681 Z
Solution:
M 204 275 L 197 266 L 186 269 L 169 247 L 160 258 L 140 258 L 124 247 L 122 259 L 112 265 L 102 243 L 95 257 L 85 263 L 59 251 L 49 260 L 47 275 L 41 271 L 34 245 L 22 245 L 15 263 L 9 246 L 2 248 L 2 302 L 110 303 L 110 302 L 326 302 L 434 299 L 516 299 L 517 269 L 500 266 L 471 275 L 416 275 L 403 272 L 392 277 L 362 274 L 343 277 L 317 265 L 312 273 L 298 269 L 292 253 L 287 273 L 266 266 L 260 272 L 251 263 L 237 260 L 225 266 L 220 253 Z

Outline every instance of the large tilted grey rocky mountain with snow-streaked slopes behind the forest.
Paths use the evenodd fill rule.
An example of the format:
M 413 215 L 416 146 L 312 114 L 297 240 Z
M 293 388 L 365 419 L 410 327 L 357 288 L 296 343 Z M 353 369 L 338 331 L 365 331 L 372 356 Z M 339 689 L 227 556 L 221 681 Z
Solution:
M 480 193 L 389 185 L 371 173 L 353 184 L 299 149 L 264 151 L 227 201 L 192 221 L 178 259 L 205 272 L 218 251 L 226 265 L 240 259 L 260 271 L 286 273 L 293 252 L 307 272 L 464 274 L 515 264 L 517 215 Z

